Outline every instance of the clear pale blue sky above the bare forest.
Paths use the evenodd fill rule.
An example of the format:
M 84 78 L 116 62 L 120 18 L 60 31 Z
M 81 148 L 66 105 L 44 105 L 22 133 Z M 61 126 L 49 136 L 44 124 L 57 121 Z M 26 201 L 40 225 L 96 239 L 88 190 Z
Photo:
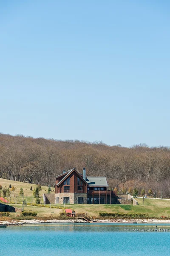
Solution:
M 0 132 L 170 146 L 170 1 L 1 0 Z

